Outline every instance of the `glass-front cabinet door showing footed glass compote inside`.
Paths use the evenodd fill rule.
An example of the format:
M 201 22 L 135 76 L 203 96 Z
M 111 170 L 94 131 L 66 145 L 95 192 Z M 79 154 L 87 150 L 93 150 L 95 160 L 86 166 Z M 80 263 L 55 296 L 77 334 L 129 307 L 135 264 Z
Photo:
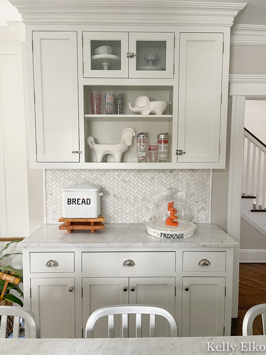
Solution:
M 173 78 L 173 32 L 129 32 L 128 52 L 129 78 Z

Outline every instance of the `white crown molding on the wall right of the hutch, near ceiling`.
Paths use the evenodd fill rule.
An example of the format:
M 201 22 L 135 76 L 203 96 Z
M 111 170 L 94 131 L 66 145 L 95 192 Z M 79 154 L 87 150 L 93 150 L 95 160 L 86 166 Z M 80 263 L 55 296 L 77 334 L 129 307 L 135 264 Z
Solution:
M 266 45 L 266 26 L 234 24 L 231 28 L 231 45 Z

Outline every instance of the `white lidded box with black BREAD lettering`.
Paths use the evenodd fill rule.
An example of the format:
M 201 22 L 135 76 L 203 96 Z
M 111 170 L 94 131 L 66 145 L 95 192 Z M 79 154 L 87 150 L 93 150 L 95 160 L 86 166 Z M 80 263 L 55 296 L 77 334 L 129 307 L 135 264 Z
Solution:
M 103 195 L 100 189 L 100 186 L 86 182 L 62 189 L 63 218 L 98 218 L 101 214 L 100 196 Z

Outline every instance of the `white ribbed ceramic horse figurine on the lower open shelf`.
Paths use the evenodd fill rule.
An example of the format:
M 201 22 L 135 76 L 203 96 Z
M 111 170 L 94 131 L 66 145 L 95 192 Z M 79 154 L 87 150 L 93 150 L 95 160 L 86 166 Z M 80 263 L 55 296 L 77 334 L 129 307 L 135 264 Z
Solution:
M 122 132 L 121 142 L 118 144 L 96 144 L 93 137 L 87 138 L 87 143 L 96 154 L 96 162 L 100 163 L 105 154 L 112 154 L 116 163 L 121 162 L 122 154 L 127 151 L 132 144 L 132 137 L 135 131 L 132 128 L 125 128 Z

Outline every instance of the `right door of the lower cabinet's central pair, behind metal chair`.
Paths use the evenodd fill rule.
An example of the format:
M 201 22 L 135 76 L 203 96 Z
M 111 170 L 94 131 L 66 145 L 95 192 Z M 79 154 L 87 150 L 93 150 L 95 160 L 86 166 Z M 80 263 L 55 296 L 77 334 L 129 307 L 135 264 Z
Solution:
M 166 308 L 174 316 L 174 277 L 130 277 L 129 304 L 144 304 Z M 133 290 L 134 289 L 134 290 Z M 133 291 L 132 291 L 133 290 Z M 149 337 L 149 315 L 142 315 L 142 336 Z M 135 316 L 129 317 L 129 336 L 136 336 Z M 164 317 L 156 316 L 156 337 L 170 337 L 170 327 Z

